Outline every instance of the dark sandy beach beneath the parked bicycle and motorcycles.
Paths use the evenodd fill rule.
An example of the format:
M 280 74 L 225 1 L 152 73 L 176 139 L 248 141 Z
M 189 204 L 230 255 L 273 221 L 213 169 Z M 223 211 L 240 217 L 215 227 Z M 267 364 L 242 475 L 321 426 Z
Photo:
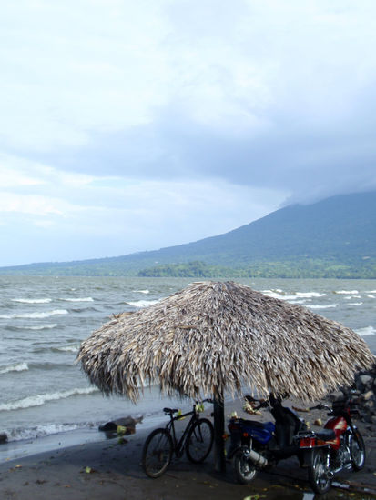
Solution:
M 226 405 L 226 414 L 236 410 L 245 416 L 241 402 Z M 204 414 L 210 412 L 209 406 Z M 322 412 L 301 414 L 313 422 Z M 264 412 L 263 420 L 269 419 Z M 183 424 L 182 424 L 183 425 Z M 359 473 L 346 473 L 337 478 L 335 486 L 321 498 L 376 498 L 376 433 L 367 424 L 357 422 L 367 445 L 367 462 Z M 137 425 L 135 435 L 127 436 L 125 444 L 117 438 L 59 446 L 54 450 L 7 460 L 0 465 L 0 498 L 8 500 L 42 500 L 46 498 L 95 500 L 198 500 L 265 498 L 314 498 L 307 481 L 307 471 L 300 469 L 296 459 L 279 463 L 269 473 L 259 473 L 252 485 L 239 485 L 232 466 L 226 474 L 214 470 L 213 457 L 203 465 L 192 465 L 186 456 L 174 460 L 165 475 L 148 478 L 141 466 L 141 451 L 150 428 Z M 63 443 L 68 441 L 63 440 Z M 51 443 L 49 444 L 52 445 Z M 39 445 L 39 449 L 43 443 Z M 252 496 L 253 495 L 253 496 Z M 259 495 L 259 496 L 258 496 Z

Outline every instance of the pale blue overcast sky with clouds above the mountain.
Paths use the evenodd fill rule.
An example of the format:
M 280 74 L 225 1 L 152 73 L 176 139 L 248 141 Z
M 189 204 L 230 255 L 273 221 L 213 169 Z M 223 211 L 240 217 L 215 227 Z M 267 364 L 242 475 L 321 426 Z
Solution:
M 0 9 L 0 265 L 188 243 L 376 189 L 374 0 Z

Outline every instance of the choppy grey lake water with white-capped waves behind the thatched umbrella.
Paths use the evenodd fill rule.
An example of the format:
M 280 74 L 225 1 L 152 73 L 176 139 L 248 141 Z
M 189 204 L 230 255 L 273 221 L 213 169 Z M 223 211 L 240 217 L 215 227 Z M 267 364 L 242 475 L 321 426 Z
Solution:
M 0 432 L 10 444 L 124 415 L 157 421 L 158 389 L 133 405 L 104 397 L 75 364 L 80 342 L 110 315 L 155 304 L 192 278 L 0 276 Z M 376 353 L 376 281 L 242 279 L 267 295 L 309 307 L 361 335 Z M 181 404 L 180 404 L 181 405 Z

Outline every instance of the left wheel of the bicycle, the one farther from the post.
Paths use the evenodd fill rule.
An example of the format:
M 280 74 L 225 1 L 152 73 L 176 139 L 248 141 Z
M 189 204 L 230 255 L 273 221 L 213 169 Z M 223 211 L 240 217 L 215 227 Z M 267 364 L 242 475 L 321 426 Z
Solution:
M 159 477 L 166 472 L 173 447 L 172 437 L 166 429 L 155 429 L 147 436 L 141 464 L 149 477 Z

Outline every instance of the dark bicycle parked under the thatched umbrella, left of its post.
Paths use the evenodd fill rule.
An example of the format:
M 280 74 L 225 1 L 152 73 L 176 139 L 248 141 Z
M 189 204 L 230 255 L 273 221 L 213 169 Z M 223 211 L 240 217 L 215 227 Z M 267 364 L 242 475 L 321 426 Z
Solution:
M 204 399 L 204 402 L 213 403 L 211 399 Z M 179 415 L 175 408 L 163 408 L 166 415 L 169 415 L 169 422 L 165 428 L 155 429 L 147 436 L 142 450 L 141 464 L 145 473 L 149 477 L 159 477 L 163 475 L 171 462 L 172 454 L 175 453 L 180 458 L 184 451 L 188 460 L 194 464 L 203 462 L 210 453 L 214 440 L 214 428 L 208 418 L 199 418 L 199 408 L 196 403 L 193 410 Z M 175 422 L 192 415 L 183 434 L 178 440 L 175 431 Z

